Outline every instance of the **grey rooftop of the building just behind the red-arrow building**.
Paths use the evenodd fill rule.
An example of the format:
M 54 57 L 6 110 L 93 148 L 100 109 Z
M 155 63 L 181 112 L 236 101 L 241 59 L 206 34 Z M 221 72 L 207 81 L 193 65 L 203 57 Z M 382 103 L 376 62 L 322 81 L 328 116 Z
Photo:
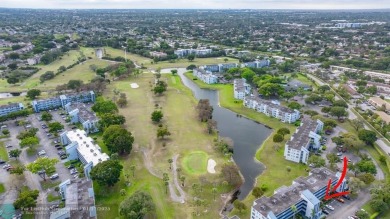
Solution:
M 291 136 L 291 139 L 286 144 L 291 148 L 300 150 L 302 146 L 306 146 L 308 141 L 310 141 L 309 134 L 316 130 L 317 125 L 317 121 L 303 118 L 301 126 L 298 127 L 297 132 Z

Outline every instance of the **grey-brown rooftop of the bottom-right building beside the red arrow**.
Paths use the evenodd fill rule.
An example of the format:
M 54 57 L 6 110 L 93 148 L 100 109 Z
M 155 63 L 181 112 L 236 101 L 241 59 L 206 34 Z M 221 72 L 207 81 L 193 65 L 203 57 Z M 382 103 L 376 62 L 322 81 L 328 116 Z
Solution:
M 327 168 L 315 168 L 309 173 L 309 176 L 299 177 L 295 179 L 290 186 L 282 186 L 274 191 L 274 195 L 271 197 L 263 196 L 255 200 L 253 208 L 263 215 L 267 215 L 272 211 L 275 215 L 278 215 L 288 209 L 290 206 L 299 202 L 301 193 L 304 195 L 309 193 L 315 193 L 319 189 L 326 187 L 329 179 L 337 180 L 339 178 L 338 173 L 334 173 Z M 305 195 L 309 200 L 314 198 L 309 195 Z M 313 195 L 312 195 L 313 196 Z M 317 199 L 318 200 L 318 199 Z

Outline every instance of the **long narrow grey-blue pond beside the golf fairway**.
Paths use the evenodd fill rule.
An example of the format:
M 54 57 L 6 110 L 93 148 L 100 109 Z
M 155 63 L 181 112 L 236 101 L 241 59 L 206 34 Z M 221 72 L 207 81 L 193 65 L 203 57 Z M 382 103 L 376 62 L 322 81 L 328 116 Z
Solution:
M 238 195 L 239 199 L 243 199 L 253 189 L 256 177 L 264 170 L 264 166 L 256 160 L 255 155 L 272 130 L 253 120 L 238 117 L 237 113 L 220 107 L 218 91 L 199 88 L 192 80 L 184 76 L 185 72 L 185 69 L 178 69 L 184 85 L 193 91 L 197 99 L 209 99 L 214 107 L 213 119 L 217 121 L 219 135 L 228 137 L 234 142 L 233 159 L 245 179 Z

